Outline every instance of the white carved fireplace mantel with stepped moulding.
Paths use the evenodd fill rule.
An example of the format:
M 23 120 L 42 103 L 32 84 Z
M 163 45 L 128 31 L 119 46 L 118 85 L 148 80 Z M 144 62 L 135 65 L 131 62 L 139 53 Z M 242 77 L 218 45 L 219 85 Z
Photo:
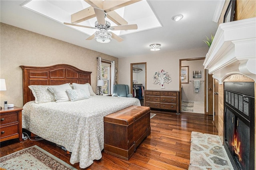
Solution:
M 231 74 L 256 81 L 256 18 L 221 23 L 203 65 L 220 84 Z

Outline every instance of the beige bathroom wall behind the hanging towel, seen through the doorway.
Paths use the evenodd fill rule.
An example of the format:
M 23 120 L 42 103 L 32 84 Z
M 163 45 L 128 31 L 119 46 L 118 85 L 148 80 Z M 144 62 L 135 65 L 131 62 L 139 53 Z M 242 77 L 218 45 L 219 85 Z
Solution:
M 182 61 L 181 66 L 189 66 L 189 81 L 200 80 L 204 81 L 204 60 L 190 60 Z M 202 78 L 193 78 L 193 71 L 201 70 Z M 182 83 L 182 100 L 185 101 L 200 101 L 204 102 L 204 82 L 200 82 L 200 90 L 198 93 L 194 92 L 193 82 Z

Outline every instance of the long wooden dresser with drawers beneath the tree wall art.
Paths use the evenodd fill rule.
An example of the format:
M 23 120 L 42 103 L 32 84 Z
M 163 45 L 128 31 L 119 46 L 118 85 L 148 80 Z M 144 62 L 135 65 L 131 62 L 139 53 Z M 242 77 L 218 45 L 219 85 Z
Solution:
M 144 90 L 144 106 L 179 113 L 179 91 Z

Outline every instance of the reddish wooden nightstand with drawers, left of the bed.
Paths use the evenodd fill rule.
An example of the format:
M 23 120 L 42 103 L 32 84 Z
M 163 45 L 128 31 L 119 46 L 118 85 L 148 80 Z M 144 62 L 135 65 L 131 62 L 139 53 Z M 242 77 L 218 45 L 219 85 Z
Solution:
M 0 110 L 0 142 L 18 138 L 22 142 L 22 108 Z

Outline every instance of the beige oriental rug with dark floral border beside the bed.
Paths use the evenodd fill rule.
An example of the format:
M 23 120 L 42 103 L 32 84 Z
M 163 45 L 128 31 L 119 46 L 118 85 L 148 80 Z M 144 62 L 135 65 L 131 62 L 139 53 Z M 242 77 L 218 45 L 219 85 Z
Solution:
M 1 157 L 0 167 L 6 170 L 77 170 L 36 145 Z

